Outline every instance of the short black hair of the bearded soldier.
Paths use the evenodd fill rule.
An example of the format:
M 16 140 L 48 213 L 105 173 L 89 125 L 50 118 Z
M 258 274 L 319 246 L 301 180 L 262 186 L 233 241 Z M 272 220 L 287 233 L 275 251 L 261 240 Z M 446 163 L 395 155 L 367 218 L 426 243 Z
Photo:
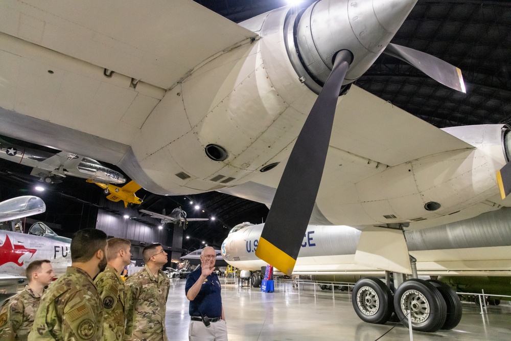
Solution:
M 106 234 L 97 229 L 84 229 L 75 234 L 71 240 L 71 260 L 85 263 L 94 256 L 98 250 L 105 250 Z

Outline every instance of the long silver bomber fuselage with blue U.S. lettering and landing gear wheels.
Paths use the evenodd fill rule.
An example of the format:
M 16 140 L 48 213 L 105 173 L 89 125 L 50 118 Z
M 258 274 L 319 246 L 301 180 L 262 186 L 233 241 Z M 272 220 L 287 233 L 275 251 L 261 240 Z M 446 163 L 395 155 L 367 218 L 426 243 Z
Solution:
M 247 222 L 236 225 L 221 247 L 228 264 L 251 271 L 254 287 L 261 285 L 264 275 L 261 268 L 267 264 L 255 255 L 263 225 Z M 309 225 L 293 275 L 307 275 L 318 281 L 357 282 L 352 303 L 363 321 L 385 323 L 394 311 L 402 319 L 403 310 L 407 308 L 402 302 L 413 301 L 416 320 L 421 320 L 414 324 L 420 328 L 435 324 L 437 316 L 434 315 L 439 310 L 436 302 L 427 304 L 420 294 L 400 287 L 395 281 L 392 283 L 397 288 L 395 293 L 383 290 L 385 286 L 378 277 L 385 277 L 385 271 L 367 265 L 363 259 L 367 255 L 357 251 L 361 234 L 360 230 L 350 226 Z M 504 208 L 431 229 L 405 231 L 404 236 L 409 255 L 414 259 L 415 277 L 441 276 L 443 282 L 464 292 L 480 293 L 483 288 L 488 294 L 509 294 L 511 209 Z M 380 247 L 387 247 L 390 252 L 403 252 L 391 242 L 382 242 Z M 361 276 L 372 277 L 360 279 Z M 430 284 L 442 286 L 434 280 Z M 454 290 L 445 285 L 441 293 L 447 304 L 447 311 L 444 310 L 447 315 L 444 325 L 439 327 L 452 329 L 461 319 L 459 299 L 456 300 Z

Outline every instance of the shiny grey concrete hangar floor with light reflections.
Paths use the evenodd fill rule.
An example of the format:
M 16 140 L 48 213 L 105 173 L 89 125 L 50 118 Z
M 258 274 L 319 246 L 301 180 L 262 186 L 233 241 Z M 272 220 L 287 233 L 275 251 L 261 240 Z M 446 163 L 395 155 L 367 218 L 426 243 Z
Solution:
M 167 302 L 167 331 L 170 340 L 187 340 L 188 300 L 185 280 L 173 279 Z M 222 280 L 223 281 L 223 280 Z M 222 284 L 222 302 L 230 341 L 267 340 L 376 340 L 395 326 L 382 341 L 406 340 L 409 330 L 401 324 L 374 325 L 362 322 L 353 310 L 351 296 L 321 291 L 312 285 L 292 288 L 275 284 L 274 293 Z M 489 306 L 485 314 L 474 303 L 463 303 L 463 317 L 453 330 L 413 332 L 420 340 L 511 340 L 511 306 L 503 301 Z

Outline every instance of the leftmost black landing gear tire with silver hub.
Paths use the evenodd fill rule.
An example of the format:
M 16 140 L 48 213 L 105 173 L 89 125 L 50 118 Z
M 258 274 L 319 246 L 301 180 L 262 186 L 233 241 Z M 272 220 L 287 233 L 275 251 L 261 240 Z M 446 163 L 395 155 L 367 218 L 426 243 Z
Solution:
M 392 292 L 379 279 L 366 277 L 353 287 L 352 304 L 364 322 L 384 324 L 394 311 Z

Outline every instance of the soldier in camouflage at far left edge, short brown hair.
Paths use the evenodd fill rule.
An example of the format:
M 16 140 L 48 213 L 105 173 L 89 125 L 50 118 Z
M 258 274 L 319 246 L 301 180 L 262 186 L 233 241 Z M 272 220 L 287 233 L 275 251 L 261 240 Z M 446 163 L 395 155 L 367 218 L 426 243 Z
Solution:
M 52 263 L 48 259 L 33 261 L 27 266 L 26 276 L 29 284 L 9 298 L 0 311 L 2 341 L 27 341 L 41 295 L 54 277 Z

